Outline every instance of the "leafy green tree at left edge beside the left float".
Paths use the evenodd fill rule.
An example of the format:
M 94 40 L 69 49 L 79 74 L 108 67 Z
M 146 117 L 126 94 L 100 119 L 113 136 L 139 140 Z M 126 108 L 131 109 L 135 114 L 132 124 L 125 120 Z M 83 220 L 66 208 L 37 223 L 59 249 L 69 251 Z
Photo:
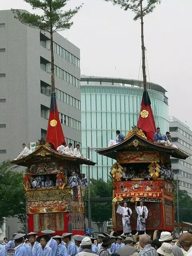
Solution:
M 17 217 L 26 228 L 26 199 L 23 188 L 23 172 L 12 166 L 9 161 L 0 164 L 0 224 L 4 218 Z

